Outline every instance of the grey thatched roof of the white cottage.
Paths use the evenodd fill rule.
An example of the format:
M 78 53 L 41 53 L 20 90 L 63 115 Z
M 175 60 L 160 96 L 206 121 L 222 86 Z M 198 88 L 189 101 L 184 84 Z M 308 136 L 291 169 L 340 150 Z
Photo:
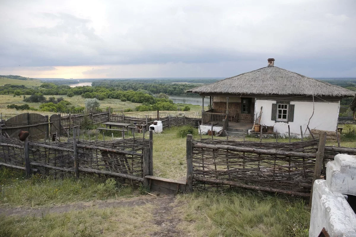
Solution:
M 193 88 L 187 92 L 230 95 L 355 96 L 354 91 L 276 66 L 245 72 L 209 85 Z

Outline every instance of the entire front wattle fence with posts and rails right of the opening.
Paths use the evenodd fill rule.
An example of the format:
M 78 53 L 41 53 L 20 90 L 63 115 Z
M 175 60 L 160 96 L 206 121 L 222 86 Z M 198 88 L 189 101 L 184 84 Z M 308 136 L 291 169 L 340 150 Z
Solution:
M 320 140 L 290 143 L 193 140 L 187 136 L 187 190 L 239 187 L 309 198 L 325 178 L 326 163 L 356 149 L 325 146 Z

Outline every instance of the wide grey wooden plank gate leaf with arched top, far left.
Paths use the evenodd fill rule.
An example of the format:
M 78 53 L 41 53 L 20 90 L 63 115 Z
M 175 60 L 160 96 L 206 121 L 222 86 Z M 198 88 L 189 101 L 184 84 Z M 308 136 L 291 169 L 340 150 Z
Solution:
M 44 139 L 48 137 L 48 116 L 35 113 L 19 114 L 7 119 L 2 130 L 10 137 L 17 137 L 20 131 L 28 131 L 30 141 Z

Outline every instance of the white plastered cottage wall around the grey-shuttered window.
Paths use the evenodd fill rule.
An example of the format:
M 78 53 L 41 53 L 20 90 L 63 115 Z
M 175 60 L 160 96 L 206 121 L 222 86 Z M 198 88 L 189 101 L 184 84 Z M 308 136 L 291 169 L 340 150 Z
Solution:
M 255 113 L 260 113 L 262 106 L 261 124 L 267 126 L 274 125 L 274 131 L 278 131 L 281 136 L 288 136 L 288 125 L 290 127 L 290 134 L 300 138 L 300 125 L 302 125 L 303 136 L 309 135 L 307 129 L 310 116 L 313 114 L 313 101 L 290 101 L 294 104 L 294 120 L 293 122 L 274 122 L 271 120 L 272 104 L 276 101 L 256 99 Z M 339 102 L 314 102 L 314 114 L 310 119 L 309 128 L 319 129 L 325 131 L 335 131 L 337 127 L 337 118 L 339 117 Z M 255 116 L 256 117 L 256 116 Z M 305 133 L 305 134 L 304 134 Z

